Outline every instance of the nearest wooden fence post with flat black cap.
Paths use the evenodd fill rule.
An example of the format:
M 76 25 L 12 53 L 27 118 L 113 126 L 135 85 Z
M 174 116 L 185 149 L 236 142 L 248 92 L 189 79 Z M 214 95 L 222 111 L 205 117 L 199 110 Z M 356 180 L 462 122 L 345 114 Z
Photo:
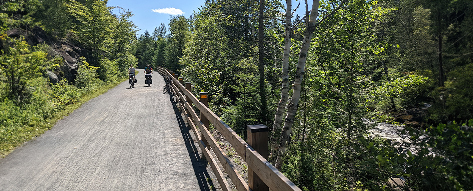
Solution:
M 265 125 L 248 125 L 248 145 L 268 159 L 268 131 Z M 269 191 L 269 187 L 248 167 L 248 186 L 253 191 Z

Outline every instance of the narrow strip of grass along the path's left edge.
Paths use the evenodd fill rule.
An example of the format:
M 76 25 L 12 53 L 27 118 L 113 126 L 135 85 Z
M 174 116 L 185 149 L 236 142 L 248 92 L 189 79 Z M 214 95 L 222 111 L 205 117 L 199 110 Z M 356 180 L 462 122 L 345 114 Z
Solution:
M 128 78 L 124 78 L 118 80 L 117 82 L 101 86 L 95 91 L 82 95 L 78 102 L 65 106 L 64 109 L 60 110 L 59 112 L 53 113 L 52 117 L 47 120 L 42 120 L 39 123 L 32 123 L 17 128 L 7 127 L 6 131 L 10 131 L 11 135 L 4 139 L 6 140 L 5 142 L 0 143 L 0 158 L 6 157 L 8 154 L 14 151 L 17 147 L 23 145 L 25 142 L 34 139 L 35 137 L 38 137 L 47 130 L 51 129 L 52 127 L 54 127 L 57 121 L 63 119 L 65 116 L 68 116 L 70 113 L 72 113 L 74 110 L 79 108 L 82 104 L 86 103 L 90 99 L 102 95 L 109 89 L 114 88 L 115 86 L 127 79 Z M 5 130 L 1 130 L 0 133 L 3 134 L 3 131 Z

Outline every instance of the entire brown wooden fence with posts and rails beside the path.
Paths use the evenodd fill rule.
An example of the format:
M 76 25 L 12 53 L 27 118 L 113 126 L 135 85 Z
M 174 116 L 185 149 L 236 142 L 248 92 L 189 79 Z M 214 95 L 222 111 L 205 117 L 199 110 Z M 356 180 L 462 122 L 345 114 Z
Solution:
M 214 171 L 222 190 L 231 191 L 231 188 L 210 150 L 214 152 L 238 191 L 267 191 L 268 188 L 272 191 L 301 191 L 267 161 L 268 128 L 266 126 L 248 126 L 248 143 L 246 143 L 207 107 L 207 92 L 201 92 L 200 100 L 198 100 L 191 93 L 190 82 L 186 82 L 184 86 L 183 78 L 178 78 L 169 70 L 158 67 L 156 71 L 163 76 L 171 77 L 172 91 L 178 100 L 177 105 L 185 115 L 186 122 L 194 132 L 199 147 Z M 200 111 L 200 116 L 197 116 L 192 104 Z M 209 122 L 227 139 L 248 165 L 248 183 L 217 144 L 209 131 Z

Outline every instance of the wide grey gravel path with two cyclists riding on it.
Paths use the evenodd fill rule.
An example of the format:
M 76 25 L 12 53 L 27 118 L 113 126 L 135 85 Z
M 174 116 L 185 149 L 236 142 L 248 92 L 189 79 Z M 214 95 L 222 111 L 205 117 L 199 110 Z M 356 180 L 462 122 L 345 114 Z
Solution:
M 209 190 L 163 78 L 144 87 L 138 71 L 135 88 L 119 84 L 0 159 L 0 190 Z

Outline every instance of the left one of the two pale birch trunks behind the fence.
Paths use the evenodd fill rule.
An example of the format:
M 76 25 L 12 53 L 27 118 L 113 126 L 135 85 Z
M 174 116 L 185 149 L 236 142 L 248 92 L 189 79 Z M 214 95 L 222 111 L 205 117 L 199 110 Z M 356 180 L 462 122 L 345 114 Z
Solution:
M 286 36 L 284 37 L 284 53 L 282 57 L 282 90 L 281 99 L 277 104 L 276 116 L 274 117 L 274 124 L 272 126 L 271 133 L 271 153 L 270 156 L 274 157 L 277 150 L 276 140 L 279 140 L 282 115 L 287 103 L 287 97 L 289 92 L 289 56 L 291 50 L 291 33 L 292 33 L 292 0 L 286 0 Z

